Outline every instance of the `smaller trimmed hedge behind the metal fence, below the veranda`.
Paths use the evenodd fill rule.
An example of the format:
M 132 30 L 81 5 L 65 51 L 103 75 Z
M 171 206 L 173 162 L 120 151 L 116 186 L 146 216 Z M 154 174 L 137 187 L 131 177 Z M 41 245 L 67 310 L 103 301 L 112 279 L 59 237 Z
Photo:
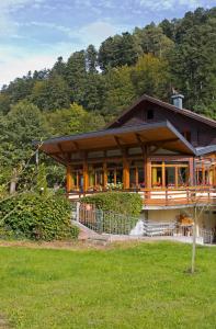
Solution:
M 141 212 L 141 197 L 138 193 L 106 192 L 86 196 L 81 203 L 94 204 L 98 209 L 138 216 Z

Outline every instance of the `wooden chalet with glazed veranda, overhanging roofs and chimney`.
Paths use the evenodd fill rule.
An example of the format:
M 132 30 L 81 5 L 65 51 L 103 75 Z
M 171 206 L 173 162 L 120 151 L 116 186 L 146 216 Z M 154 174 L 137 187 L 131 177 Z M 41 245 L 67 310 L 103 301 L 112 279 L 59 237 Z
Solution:
M 109 190 L 139 193 L 144 215 L 174 220 L 209 205 L 201 227 L 216 226 L 216 121 L 143 95 L 104 129 L 45 140 L 41 150 L 66 167 L 71 200 Z

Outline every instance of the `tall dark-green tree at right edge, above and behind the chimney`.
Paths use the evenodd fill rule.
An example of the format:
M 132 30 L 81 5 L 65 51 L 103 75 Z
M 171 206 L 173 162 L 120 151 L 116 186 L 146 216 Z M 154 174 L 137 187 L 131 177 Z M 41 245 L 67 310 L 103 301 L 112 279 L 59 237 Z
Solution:
M 216 99 L 216 19 L 194 25 L 182 36 L 171 56 L 170 67 L 175 87 L 185 95 L 190 109 L 213 104 Z M 201 111 L 200 111 L 201 113 Z M 204 112 L 203 112 L 204 113 Z

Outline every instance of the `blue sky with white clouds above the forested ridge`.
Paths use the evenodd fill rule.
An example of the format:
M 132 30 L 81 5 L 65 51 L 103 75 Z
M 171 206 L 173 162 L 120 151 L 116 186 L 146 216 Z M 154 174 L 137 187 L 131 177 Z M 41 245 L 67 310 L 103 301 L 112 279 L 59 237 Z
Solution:
M 0 87 L 89 44 L 216 0 L 0 0 Z

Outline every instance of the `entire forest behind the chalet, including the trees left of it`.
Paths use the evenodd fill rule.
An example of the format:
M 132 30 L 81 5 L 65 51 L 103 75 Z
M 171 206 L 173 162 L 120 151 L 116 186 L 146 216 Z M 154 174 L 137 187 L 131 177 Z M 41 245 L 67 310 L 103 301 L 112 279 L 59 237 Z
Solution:
M 178 90 L 184 107 L 216 120 L 215 49 L 216 8 L 198 8 L 182 19 L 110 36 L 99 49 L 89 45 L 3 86 L 0 192 L 11 177 L 18 189 L 32 183 L 33 139 L 102 128 L 144 93 L 170 102 Z M 44 163 L 49 185 L 62 180 L 58 166 Z

